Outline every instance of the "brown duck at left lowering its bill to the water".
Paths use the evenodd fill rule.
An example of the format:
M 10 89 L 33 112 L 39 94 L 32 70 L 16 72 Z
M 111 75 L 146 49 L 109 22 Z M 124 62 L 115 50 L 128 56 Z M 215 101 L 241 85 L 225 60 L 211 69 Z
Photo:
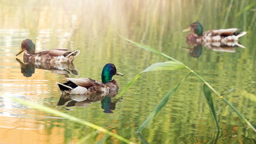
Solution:
M 50 49 L 35 53 L 35 44 L 32 40 L 26 39 L 22 41 L 21 50 L 17 55 L 26 52 L 23 55 L 24 62 L 72 62 L 79 55 L 80 50 L 69 52 L 68 49 Z M 16 56 L 17 56 L 16 55 Z

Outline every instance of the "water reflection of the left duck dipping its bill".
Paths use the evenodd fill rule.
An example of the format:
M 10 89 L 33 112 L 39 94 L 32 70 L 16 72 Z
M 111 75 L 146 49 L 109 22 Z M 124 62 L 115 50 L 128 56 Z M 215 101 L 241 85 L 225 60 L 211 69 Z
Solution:
M 79 75 L 79 71 L 76 70 L 72 62 L 68 63 L 55 63 L 50 64 L 47 62 L 25 62 L 23 63 L 20 59 L 16 58 L 16 61 L 20 64 L 21 73 L 25 77 L 31 77 L 35 73 L 35 68 L 42 70 L 52 71 L 54 74 L 63 74 L 66 77 L 69 77 L 68 74 L 73 74 L 75 76 Z

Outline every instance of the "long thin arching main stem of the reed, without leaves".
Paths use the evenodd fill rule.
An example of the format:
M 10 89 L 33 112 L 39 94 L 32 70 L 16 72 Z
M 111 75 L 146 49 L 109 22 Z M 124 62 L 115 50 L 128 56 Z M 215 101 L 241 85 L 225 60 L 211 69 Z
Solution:
M 124 37 L 122 37 L 121 35 L 120 35 L 120 37 L 121 37 L 121 38 L 124 38 Z M 172 61 L 178 62 L 178 63 L 180 63 L 181 65 L 184 65 L 182 62 L 177 61 L 176 59 L 171 58 L 171 56 L 165 55 L 165 53 L 162 53 L 162 52 L 160 52 L 159 50 L 153 49 L 153 48 L 150 47 L 150 46 L 145 46 L 144 44 L 136 43 L 136 42 L 134 42 L 134 41 L 132 41 L 132 40 L 129 40 L 129 39 L 127 39 L 127 38 L 124 38 L 124 40 L 127 40 L 127 41 L 129 41 L 130 43 L 133 43 L 133 44 L 135 44 L 136 46 L 141 47 L 142 49 L 148 50 L 148 51 L 150 51 L 150 52 L 157 53 L 157 54 L 159 54 L 159 55 L 161 55 L 161 56 L 163 56 L 163 57 L 165 57 L 165 58 L 171 59 Z M 235 109 L 230 103 L 228 103 L 228 101 L 227 101 L 225 98 L 223 98 L 223 97 L 221 96 L 221 94 L 219 94 L 219 92 L 216 91 L 208 82 L 206 82 L 206 80 L 204 80 L 203 77 L 199 76 L 197 73 L 195 73 L 195 71 L 191 70 L 191 69 L 190 69 L 189 67 L 187 67 L 186 65 L 184 65 L 184 67 L 186 67 L 187 70 L 189 70 L 191 73 L 193 73 L 195 76 L 197 76 L 198 79 L 200 79 L 200 80 L 201 80 L 203 83 L 205 83 L 210 89 L 212 89 L 212 91 L 215 92 L 215 94 L 216 94 L 218 97 L 221 97 L 222 100 L 224 100 L 224 102 L 227 103 L 228 106 L 230 106 L 231 109 L 233 109 L 233 110 L 237 113 L 237 115 L 239 115 L 240 118 L 242 118 L 243 121 L 245 121 L 246 124 L 248 124 L 248 126 L 251 127 L 252 130 L 254 130 L 255 133 L 256 133 L 256 128 L 251 124 L 251 122 L 249 122 L 247 119 L 245 119 L 245 117 L 243 117 L 243 115 L 241 115 L 241 113 L 239 113 L 239 112 L 237 111 L 237 109 Z M 138 75 L 139 75 L 139 74 L 138 74 Z M 138 76 L 138 75 L 137 75 L 137 76 Z M 139 76 L 138 76 L 138 77 L 139 77 Z M 137 77 L 137 79 L 138 79 L 138 77 Z M 133 82 L 134 82 L 135 80 L 136 80 L 136 79 L 133 79 Z M 133 83 L 133 82 L 132 82 L 132 83 Z M 130 82 L 129 84 L 132 85 L 132 83 Z M 129 84 L 128 84 L 128 85 L 129 85 Z M 122 92 L 123 92 L 123 91 L 122 91 Z M 123 94 L 123 93 L 122 93 L 122 94 Z M 120 96 L 119 96 L 119 97 L 120 97 Z

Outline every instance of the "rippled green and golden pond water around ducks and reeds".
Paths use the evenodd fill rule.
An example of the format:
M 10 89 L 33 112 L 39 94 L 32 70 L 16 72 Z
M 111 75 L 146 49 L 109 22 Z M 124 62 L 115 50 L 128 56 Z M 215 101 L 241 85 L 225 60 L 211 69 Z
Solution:
M 56 82 L 65 77 L 100 80 L 102 68 L 113 63 L 124 74 L 114 76 L 120 90 L 136 74 L 156 62 L 164 62 L 123 40 L 119 35 L 147 44 L 196 71 L 224 95 L 252 123 L 256 123 L 256 6 L 254 1 L 1 1 L 0 2 L 0 143 L 76 143 L 93 128 L 15 103 L 10 97 L 49 106 L 113 133 L 142 143 L 135 133 L 165 94 L 187 70 L 142 74 L 121 98 L 116 94 L 76 103 L 80 97 L 64 97 Z M 250 6 L 249 10 L 243 9 Z M 243 13 L 240 13 L 242 11 Z M 240 14 L 239 14 L 240 13 Z M 202 47 L 194 58 L 184 47 L 192 22 L 209 29 L 239 28 L 246 48 L 221 52 Z M 65 70 L 46 70 L 23 64 L 15 56 L 30 38 L 36 52 L 44 49 L 81 50 Z M 193 48 L 193 47 L 190 47 Z M 16 59 L 17 58 L 17 59 Z M 80 98 L 80 99 L 79 99 Z M 76 101 L 75 101 L 76 100 Z M 148 143 L 255 143 L 255 132 L 213 94 L 221 132 L 210 115 L 203 83 L 191 75 L 143 131 Z M 64 106 L 67 105 L 67 106 Z M 104 133 L 85 143 L 123 143 Z

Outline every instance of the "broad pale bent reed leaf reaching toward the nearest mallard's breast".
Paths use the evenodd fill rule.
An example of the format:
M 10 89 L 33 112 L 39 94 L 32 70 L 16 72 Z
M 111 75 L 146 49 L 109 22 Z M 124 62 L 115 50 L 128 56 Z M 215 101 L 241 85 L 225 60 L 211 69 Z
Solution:
M 132 85 L 135 80 L 137 80 L 142 73 L 147 73 L 150 71 L 167 71 L 167 70 L 180 70 L 186 68 L 185 65 L 180 64 L 179 62 L 175 61 L 166 61 L 166 62 L 157 62 L 155 64 L 150 65 L 150 67 L 146 68 L 144 71 L 141 71 L 141 73 L 137 74 L 133 79 L 126 85 L 126 87 L 115 97 L 116 99 L 120 98 L 121 95 L 126 92 L 126 90 Z

